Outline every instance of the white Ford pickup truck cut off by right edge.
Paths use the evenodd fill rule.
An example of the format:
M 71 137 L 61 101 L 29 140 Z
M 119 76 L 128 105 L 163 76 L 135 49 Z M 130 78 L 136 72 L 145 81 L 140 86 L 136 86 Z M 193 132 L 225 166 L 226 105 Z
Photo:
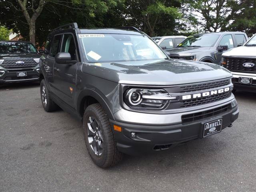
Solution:
M 223 53 L 220 65 L 232 72 L 234 90 L 256 92 L 256 34 L 244 46 Z

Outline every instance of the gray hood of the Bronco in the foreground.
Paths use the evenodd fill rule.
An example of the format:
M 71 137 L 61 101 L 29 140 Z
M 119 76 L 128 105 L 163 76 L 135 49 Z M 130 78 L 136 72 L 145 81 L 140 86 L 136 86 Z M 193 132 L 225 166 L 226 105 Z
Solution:
M 225 68 L 187 60 L 83 63 L 82 72 L 121 84 L 175 85 L 232 77 Z

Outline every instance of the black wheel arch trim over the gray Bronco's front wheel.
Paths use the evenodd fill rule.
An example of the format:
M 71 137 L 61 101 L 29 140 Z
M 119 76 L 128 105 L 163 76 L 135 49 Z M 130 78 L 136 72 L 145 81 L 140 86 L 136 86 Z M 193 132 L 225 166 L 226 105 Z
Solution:
M 114 115 L 113 113 L 111 112 L 107 102 L 104 100 L 104 98 L 98 94 L 95 90 L 92 90 L 90 88 L 88 89 L 85 89 L 83 90 L 79 96 L 78 96 L 78 99 L 77 99 L 77 112 L 80 114 L 80 111 L 81 111 L 81 108 L 83 108 L 84 106 L 81 105 L 82 103 L 82 100 L 86 97 L 86 96 L 91 96 L 93 97 L 94 99 L 96 99 L 100 105 L 102 106 L 102 108 L 104 109 L 104 111 L 106 112 L 108 118 L 112 119 L 112 120 L 115 120 L 114 119 Z

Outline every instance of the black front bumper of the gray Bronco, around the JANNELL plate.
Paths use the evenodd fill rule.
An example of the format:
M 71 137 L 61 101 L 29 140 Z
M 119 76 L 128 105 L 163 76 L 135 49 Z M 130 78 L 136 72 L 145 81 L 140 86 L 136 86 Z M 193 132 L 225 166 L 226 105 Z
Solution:
M 110 120 L 110 124 L 112 127 L 117 125 L 122 128 L 121 132 L 113 130 L 118 150 L 125 154 L 139 155 L 167 149 L 189 140 L 202 138 L 203 124 L 212 120 L 222 118 L 222 129 L 226 128 L 238 118 L 239 110 L 235 99 L 228 104 L 214 106 L 214 108 L 219 108 L 224 105 L 230 105 L 230 108 L 220 114 L 193 120 L 191 122 L 184 123 L 175 122 L 175 120 L 173 120 L 173 122 L 175 122 L 173 124 L 159 125 L 158 122 L 156 124 L 134 124 Z M 189 113 L 193 114 L 200 111 L 202 112 L 202 110 L 197 110 Z M 184 114 L 185 113 L 181 113 L 178 115 L 182 116 Z M 157 116 L 159 115 L 156 115 L 155 118 L 157 118 Z M 177 117 L 177 114 L 169 114 L 169 119 L 172 119 L 173 116 Z M 131 136 L 132 132 L 136 135 L 134 138 Z

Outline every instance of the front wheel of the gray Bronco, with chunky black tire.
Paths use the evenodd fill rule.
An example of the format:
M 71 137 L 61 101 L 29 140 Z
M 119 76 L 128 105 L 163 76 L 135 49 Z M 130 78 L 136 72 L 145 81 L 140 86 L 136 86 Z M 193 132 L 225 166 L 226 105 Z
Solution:
M 86 148 L 96 165 L 108 168 L 122 160 L 123 154 L 116 147 L 108 117 L 100 104 L 86 108 L 83 130 Z

